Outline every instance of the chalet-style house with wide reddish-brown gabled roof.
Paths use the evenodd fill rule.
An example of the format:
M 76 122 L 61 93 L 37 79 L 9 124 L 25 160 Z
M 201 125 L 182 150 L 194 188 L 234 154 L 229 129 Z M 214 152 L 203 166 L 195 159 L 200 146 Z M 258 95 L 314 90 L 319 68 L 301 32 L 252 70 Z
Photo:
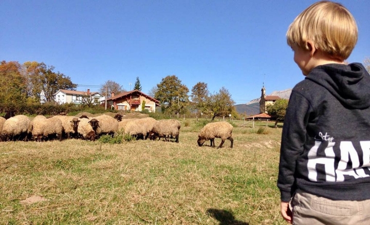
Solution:
M 156 106 L 160 106 L 158 100 L 139 90 L 125 91 L 118 95 L 112 93 L 112 97 L 107 98 L 107 103 L 117 110 L 141 111 L 143 101 L 145 101 L 145 109 L 152 113 L 155 113 Z M 102 103 L 104 102 L 103 100 Z

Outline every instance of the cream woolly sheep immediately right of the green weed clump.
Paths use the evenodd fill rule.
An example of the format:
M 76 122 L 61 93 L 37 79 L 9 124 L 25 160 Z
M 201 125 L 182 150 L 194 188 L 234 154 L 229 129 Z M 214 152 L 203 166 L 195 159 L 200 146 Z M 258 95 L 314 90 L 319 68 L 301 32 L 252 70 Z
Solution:
M 156 122 L 157 120 L 151 117 L 129 121 L 125 126 L 124 132 L 125 134 L 130 134 L 137 139 L 142 136 L 142 138 L 146 140 Z

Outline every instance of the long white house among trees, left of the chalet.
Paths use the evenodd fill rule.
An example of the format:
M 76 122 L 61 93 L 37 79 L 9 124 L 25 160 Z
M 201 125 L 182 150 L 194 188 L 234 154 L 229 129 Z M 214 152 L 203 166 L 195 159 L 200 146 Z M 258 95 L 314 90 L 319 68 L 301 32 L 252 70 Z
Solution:
M 56 93 L 54 93 L 53 96 L 55 102 L 58 104 L 83 104 L 89 102 L 93 104 L 100 104 L 100 102 L 104 101 L 105 99 L 105 97 L 99 92 L 90 92 L 90 89 L 87 89 L 87 91 L 59 89 Z

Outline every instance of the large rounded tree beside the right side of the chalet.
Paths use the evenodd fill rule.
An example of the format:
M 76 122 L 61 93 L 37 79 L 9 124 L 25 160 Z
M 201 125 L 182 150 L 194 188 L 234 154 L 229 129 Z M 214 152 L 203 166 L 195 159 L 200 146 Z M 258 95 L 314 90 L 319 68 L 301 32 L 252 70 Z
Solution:
M 154 98 L 161 103 L 163 113 L 179 115 L 188 111 L 189 89 L 175 75 L 163 78 L 157 88 Z

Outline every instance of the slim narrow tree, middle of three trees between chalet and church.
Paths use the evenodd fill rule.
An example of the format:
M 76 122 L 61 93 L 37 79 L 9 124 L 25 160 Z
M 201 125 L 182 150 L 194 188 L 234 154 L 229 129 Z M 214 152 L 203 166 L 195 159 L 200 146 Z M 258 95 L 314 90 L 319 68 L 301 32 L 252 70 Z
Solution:
M 195 109 L 199 109 L 200 112 L 203 113 L 208 111 L 207 102 L 209 101 L 209 91 L 206 83 L 198 82 L 197 84 L 195 84 L 192 88 L 192 93 L 190 97 Z

